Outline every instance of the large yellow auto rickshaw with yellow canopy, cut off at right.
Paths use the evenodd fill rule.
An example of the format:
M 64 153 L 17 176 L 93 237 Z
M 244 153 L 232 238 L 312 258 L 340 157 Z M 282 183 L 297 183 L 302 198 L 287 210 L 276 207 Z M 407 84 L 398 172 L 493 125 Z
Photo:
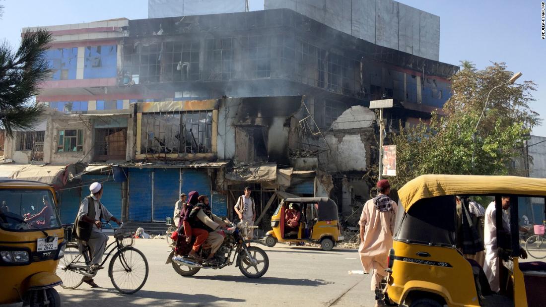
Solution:
M 521 248 L 524 242 L 519 238 L 518 220 L 520 213 L 531 209 L 535 220 L 542 222 L 546 214 L 546 179 L 424 175 L 408 182 L 398 194 L 386 283 L 376 291 L 376 299 L 388 306 L 411 307 L 545 306 L 546 263 L 536 258 L 524 260 L 526 252 Z M 482 260 L 478 260 L 479 252 L 466 252 L 468 246 L 478 246 L 480 241 L 472 245 L 467 240 L 473 230 L 479 230 L 479 224 L 469 222 L 472 201 L 461 201 L 465 199 L 484 202 L 480 207 L 488 208 L 481 211 L 486 221 L 485 238 L 497 239 L 497 249 L 488 249 L 488 242 L 482 243 L 490 251 Z M 491 201 L 489 206 L 485 200 Z M 473 214 L 478 216 L 478 201 L 473 202 L 478 212 Z M 459 224 L 461 219 L 467 221 L 466 225 Z M 495 230 L 487 226 L 488 221 L 489 225 L 494 221 L 505 226 Z M 483 240 L 483 234 L 479 236 Z M 494 244 L 492 239 L 489 244 Z M 492 261 L 499 268 L 495 278 L 483 270 L 484 266 L 494 267 Z M 498 293 L 492 291 L 495 286 Z

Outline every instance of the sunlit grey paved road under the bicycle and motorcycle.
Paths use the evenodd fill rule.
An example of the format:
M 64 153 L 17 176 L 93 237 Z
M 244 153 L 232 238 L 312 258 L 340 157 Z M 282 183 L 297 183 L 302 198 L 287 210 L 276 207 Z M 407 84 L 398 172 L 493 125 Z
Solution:
M 351 275 L 361 270 L 356 250 L 330 252 L 318 248 L 277 244 L 263 246 L 269 256 L 268 272 L 259 279 L 248 279 L 234 266 L 219 270 L 200 270 L 193 277 L 182 277 L 165 265 L 169 249 L 165 240 L 140 239 L 150 264 L 150 275 L 139 292 L 127 296 L 112 286 L 106 269 L 95 281 L 104 287 L 92 289 L 83 284 L 76 290 L 57 287 L 64 305 L 110 306 L 373 306 L 370 275 Z M 262 247 L 262 246 L 260 246 Z

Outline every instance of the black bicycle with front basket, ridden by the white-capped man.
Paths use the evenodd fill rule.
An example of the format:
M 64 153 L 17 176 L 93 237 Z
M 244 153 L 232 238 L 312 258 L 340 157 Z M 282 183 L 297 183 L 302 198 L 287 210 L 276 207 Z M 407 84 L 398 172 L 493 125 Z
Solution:
M 110 223 L 106 223 L 110 225 Z M 106 225 L 103 224 L 103 225 Z M 112 227 L 112 225 L 110 225 Z M 133 247 L 132 234 L 123 233 L 123 224 L 114 230 L 114 242 L 104 249 L 106 257 L 100 263 L 103 267 L 110 255 L 115 252 L 108 266 L 108 276 L 117 291 L 123 294 L 133 294 L 139 291 L 148 279 L 149 266 L 143 252 Z M 84 245 L 80 253 L 78 243 L 68 243 L 64 257 L 57 266 L 57 276 L 65 289 L 78 288 L 84 282 L 84 276 L 93 278 L 99 270 L 91 272 L 91 257 L 89 246 Z M 108 252 L 106 252 L 108 251 Z

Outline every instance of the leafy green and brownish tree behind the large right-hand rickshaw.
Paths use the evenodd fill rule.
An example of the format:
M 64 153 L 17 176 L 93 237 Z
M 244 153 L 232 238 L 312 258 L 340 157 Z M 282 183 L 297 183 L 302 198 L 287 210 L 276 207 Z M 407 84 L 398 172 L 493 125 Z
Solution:
M 400 188 L 422 174 L 515 174 L 511 160 L 520 156 L 531 128 L 541 123 L 529 104 L 535 83 L 507 85 L 513 75 L 505 63 L 493 63 L 478 70 L 470 62 L 452 77 L 452 97 L 444 105 L 442 116 L 432 113 L 430 121 L 401 129 L 390 135 L 396 145 L 397 176 L 391 184 Z

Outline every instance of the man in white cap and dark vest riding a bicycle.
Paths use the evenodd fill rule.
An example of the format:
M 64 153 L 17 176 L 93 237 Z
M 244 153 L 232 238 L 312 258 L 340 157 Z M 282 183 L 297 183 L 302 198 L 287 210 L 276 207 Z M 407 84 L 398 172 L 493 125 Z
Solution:
M 87 240 L 87 245 L 91 249 L 91 270 L 100 269 L 100 262 L 102 262 L 102 256 L 106 247 L 106 241 L 108 237 L 102 233 L 101 219 L 105 221 L 115 221 L 118 225 L 121 225 L 121 221 L 116 219 L 108 209 L 100 202 L 100 198 L 103 195 L 103 186 L 98 182 L 93 182 L 89 187 L 91 195 L 84 198 L 80 204 L 80 210 L 78 211 L 78 219 L 80 222 L 87 222 L 93 225 L 91 236 Z M 95 288 L 98 287 L 94 283 L 92 278 L 84 277 L 84 282 Z

